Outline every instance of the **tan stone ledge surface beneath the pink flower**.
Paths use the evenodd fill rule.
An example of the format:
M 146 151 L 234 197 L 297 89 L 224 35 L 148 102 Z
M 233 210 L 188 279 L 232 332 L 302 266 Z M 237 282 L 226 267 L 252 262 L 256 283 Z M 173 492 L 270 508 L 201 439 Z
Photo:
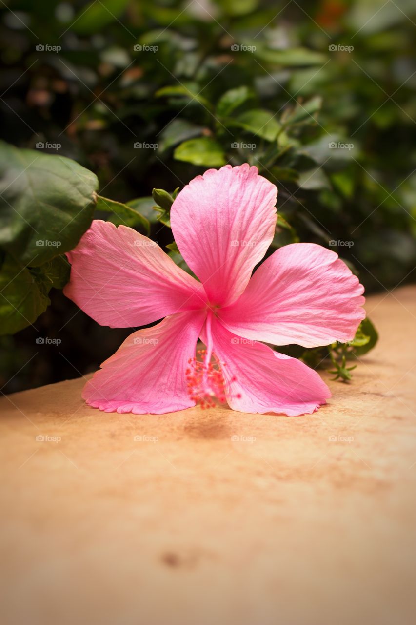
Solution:
M 312 416 L 3 397 L 1 622 L 413 624 L 415 300 L 369 298 L 379 345 Z

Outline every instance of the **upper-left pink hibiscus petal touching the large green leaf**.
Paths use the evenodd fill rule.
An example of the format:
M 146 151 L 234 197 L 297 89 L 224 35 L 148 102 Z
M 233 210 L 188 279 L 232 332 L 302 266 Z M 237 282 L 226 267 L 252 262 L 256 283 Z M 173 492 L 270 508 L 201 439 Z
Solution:
M 67 257 L 64 294 L 102 326 L 146 326 L 201 308 L 206 299 L 202 285 L 161 247 L 126 226 L 94 220 Z

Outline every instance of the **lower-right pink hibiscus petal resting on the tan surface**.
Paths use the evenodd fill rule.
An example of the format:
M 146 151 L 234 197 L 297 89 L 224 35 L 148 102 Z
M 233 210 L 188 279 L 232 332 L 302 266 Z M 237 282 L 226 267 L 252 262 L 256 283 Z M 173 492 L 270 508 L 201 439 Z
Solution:
M 212 341 L 234 410 L 297 416 L 315 412 L 331 396 L 317 372 L 303 362 L 236 336 L 219 321 L 212 323 Z

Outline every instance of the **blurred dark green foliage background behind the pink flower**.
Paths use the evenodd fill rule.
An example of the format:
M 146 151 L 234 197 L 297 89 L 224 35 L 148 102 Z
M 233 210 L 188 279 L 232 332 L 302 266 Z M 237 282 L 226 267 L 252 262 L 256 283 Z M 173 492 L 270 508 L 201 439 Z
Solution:
M 317 242 L 390 290 L 415 279 L 415 29 L 410 0 L 4 1 L 1 138 L 93 171 L 161 246 L 153 187 L 249 162 L 279 187 L 271 251 Z M 0 337 L 2 392 L 94 371 L 131 332 L 49 297 Z

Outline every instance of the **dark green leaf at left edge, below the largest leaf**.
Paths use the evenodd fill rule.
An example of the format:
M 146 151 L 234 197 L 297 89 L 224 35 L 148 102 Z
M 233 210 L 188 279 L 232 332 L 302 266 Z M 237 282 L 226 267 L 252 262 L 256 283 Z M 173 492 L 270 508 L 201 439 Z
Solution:
M 30 326 L 50 303 L 42 280 L 7 256 L 0 271 L 0 335 Z

